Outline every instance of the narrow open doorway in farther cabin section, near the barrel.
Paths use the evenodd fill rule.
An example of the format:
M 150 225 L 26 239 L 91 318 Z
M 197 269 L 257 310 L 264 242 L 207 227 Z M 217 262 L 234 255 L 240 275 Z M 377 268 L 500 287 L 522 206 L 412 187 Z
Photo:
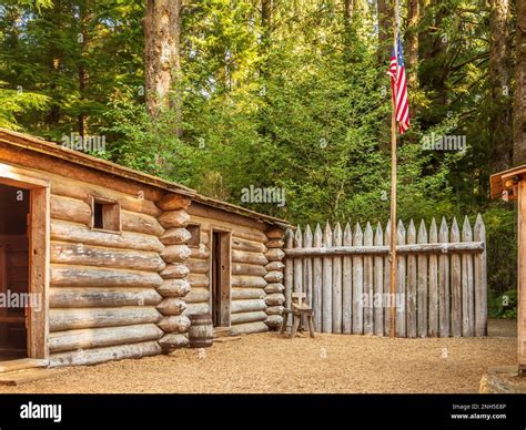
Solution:
M 212 320 L 214 327 L 230 326 L 230 233 L 212 232 Z

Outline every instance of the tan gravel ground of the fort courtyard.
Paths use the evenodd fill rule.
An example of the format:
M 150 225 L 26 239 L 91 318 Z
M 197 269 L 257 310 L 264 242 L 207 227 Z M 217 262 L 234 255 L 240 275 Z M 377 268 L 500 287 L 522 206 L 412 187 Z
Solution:
M 488 367 L 515 362 L 515 325 L 492 321 L 489 337 L 473 339 L 250 335 L 206 350 L 67 368 L 0 393 L 478 392 Z

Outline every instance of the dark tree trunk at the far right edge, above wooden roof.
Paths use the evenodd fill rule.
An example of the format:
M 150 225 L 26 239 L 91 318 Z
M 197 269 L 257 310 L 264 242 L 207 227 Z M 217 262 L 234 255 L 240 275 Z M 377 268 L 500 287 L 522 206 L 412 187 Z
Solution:
M 517 0 L 514 165 L 526 164 L 526 0 Z

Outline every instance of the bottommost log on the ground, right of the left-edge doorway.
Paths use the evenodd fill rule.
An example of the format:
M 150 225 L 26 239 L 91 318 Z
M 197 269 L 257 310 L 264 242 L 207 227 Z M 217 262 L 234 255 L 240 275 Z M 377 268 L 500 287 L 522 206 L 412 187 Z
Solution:
M 114 347 L 83 349 L 75 352 L 59 352 L 50 357 L 50 367 L 98 365 L 124 358 L 142 358 L 162 352 L 158 341 L 119 345 Z

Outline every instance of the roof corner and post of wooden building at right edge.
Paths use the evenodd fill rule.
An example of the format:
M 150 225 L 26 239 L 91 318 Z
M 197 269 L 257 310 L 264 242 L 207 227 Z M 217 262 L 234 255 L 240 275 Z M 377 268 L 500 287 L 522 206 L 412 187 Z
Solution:
M 518 371 L 524 375 L 526 372 L 526 166 L 492 175 L 490 191 L 493 198 L 517 202 L 517 362 Z

